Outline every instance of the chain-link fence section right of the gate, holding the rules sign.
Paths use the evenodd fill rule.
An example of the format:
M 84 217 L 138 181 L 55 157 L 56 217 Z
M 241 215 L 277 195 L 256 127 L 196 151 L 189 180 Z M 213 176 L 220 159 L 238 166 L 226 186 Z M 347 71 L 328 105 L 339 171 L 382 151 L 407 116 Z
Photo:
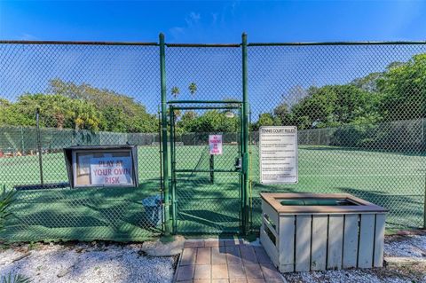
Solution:
M 259 184 L 252 135 L 255 227 L 262 191 L 351 193 L 390 209 L 388 226 L 423 225 L 425 53 L 425 44 L 249 46 L 253 119 L 299 130 L 297 185 Z

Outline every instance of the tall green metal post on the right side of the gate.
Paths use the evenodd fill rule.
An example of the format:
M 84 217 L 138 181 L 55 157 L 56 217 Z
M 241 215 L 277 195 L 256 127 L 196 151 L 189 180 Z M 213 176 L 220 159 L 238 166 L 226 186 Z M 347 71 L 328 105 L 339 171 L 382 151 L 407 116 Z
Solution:
M 243 131 L 243 146 L 242 146 L 242 175 L 243 175 L 243 216 L 242 229 L 243 233 L 247 234 L 249 229 L 249 208 L 248 208 L 248 92 L 247 92 L 247 34 L 241 35 L 242 39 L 242 131 Z

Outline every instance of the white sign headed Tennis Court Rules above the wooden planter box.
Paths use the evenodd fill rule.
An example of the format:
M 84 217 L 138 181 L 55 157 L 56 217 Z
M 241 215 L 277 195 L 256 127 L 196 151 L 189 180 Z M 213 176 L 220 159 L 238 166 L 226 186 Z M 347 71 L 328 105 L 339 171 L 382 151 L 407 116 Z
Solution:
M 259 131 L 260 182 L 296 184 L 297 128 L 261 127 Z

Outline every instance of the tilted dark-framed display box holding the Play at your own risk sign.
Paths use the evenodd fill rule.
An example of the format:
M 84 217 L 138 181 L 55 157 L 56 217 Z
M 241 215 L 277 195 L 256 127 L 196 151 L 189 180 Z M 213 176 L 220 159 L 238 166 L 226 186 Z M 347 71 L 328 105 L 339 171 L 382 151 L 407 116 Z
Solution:
M 72 188 L 138 186 L 136 145 L 71 146 L 64 155 Z

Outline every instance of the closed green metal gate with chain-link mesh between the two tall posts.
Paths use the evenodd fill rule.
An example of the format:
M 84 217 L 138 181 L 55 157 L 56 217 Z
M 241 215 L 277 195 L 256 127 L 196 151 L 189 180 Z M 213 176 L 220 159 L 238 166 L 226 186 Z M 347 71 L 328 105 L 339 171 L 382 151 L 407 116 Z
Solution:
M 241 110 L 239 101 L 170 102 L 173 232 L 241 232 Z M 190 134 L 178 133 L 181 119 L 201 114 L 217 119 L 216 129 L 201 123 Z M 222 154 L 210 154 L 209 135 L 222 136 Z

